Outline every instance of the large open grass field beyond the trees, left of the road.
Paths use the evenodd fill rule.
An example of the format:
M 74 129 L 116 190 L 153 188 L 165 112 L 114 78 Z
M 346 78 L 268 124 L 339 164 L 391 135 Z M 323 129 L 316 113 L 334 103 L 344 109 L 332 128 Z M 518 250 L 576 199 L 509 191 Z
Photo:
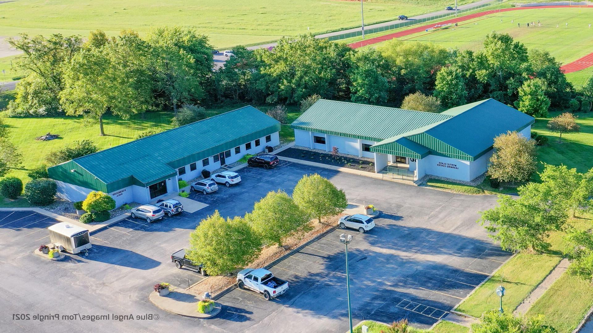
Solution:
M 377 0 L 364 4 L 365 23 L 389 21 L 398 15 L 423 14 L 454 5 L 452 0 Z M 460 0 L 458 5 L 471 0 Z M 132 29 L 145 34 L 152 26 L 195 27 L 213 46 L 264 43 L 282 36 L 324 33 L 361 24 L 361 5 L 339 0 L 198 1 L 171 0 L 29 0 L 1 4 L 2 36 L 18 33 L 81 34 L 101 29 L 107 34 Z

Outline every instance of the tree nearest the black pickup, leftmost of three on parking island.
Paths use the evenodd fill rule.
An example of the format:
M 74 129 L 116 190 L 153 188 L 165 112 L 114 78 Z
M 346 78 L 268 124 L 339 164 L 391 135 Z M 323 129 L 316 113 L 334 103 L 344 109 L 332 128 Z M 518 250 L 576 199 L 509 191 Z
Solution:
M 227 274 L 256 260 L 262 241 L 240 217 L 224 219 L 218 210 L 190 233 L 186 257 L 201 262 L 210 275 Z

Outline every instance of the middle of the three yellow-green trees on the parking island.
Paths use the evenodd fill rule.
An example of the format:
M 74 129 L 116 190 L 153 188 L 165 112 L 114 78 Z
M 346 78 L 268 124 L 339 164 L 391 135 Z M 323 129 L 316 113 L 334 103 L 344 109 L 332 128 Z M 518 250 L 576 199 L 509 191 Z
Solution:
M 286 237 L 311 230 L 307 213 L 282 190 L 271 191 L 257 201 L 245 219 L 266 245 L 282 246 Z

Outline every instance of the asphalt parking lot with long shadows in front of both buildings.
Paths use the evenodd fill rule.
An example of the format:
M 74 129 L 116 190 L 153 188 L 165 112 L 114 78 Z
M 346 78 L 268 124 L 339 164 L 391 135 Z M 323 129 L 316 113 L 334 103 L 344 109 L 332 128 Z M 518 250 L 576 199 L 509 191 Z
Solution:
M 155 308 L 148 301 L 152 285 L 165 281 L 187 287 L 202 277 L 178 270 L 171 253 L 187 247 L 189 232 L 218 209 L 223 216 L 243 215 L 268 191 L 292 188 L 304 174 L 317 172 L 346 191 L 350 202 L 374 204 L 384 214 L 369 233 L 354 236 L 349 251 L 355 323 L 363 319 L 390 322 L 408 318 L 429 326 L 459 302 L 509 254 L 493 245 L 475 223 L 477 211 L 492 207 L 496 197 L 464 196 L 283 162 L 271 170 L 244 168 L 242 183 L 222 185 L 217 193 L 192 193 L 209 204 L 160 222 L 126 219 L 93 233 L 88 257 L 72 255 L 50 262 L 34 255 L 46 243 L 45 228 L 55 222 L 32 212 L 0 212 L 5 284 L 0 305 L 5 313 L 157 313 L 158 321 L 14 321 L 0 324 L 12 331 L 274 332 L 347 329 L 345 258 L 336 230 L 271 270 L 289 281 L 290 289 L 267 302 L 259 294 L 233 290 L 222 297 L 225 308 L 208 321 L 184 318 Z M 53 306 L 55 305 L 55 306 Z M 59 306 L 58 306 L 59 305 Z M 317 329 L 318 328 L 318 329 Z

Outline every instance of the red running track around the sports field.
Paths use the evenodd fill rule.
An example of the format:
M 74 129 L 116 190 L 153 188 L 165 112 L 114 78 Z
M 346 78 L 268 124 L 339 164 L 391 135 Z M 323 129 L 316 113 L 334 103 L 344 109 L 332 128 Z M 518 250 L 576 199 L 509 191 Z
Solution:
M 361 41 L 356 41 L 355 43 L 350 43 L 348 46 L 352 47 L 352 49 L 358 49 L 359 47 L 381 43 L 382 41 L 391 40 L 398 37 L 409 36 L 411 34 L 421 33 L 426 31 L 428 28 L 432 28 L 437 24 L 455 24 L 467 20 L 471 20 L 472 18 L 482 17 L 490 14 L 496 14 L 498 12 L 508 12 L 508 11 L 519 11 L 522 9 L 540 9 L 540 8 L 593 8 L 593 5 L 587 6 L 569 6 L 569 5 L 556 5 L 556 6 L 537 6 L 537 7 L 514 7 L 514 8 L 503 8 L 503 9 L 491 9 L 489 11 L 484 12 L 477 12 L 475 14 L 470 14 L 466 16 L 460 16 L 451 18 L 450 20 L 440 21 L 436 23 L 422 25 L 420 27 L 411 28 L 404 31 L 398 31 L 397 33 L 388 34 L 385 36 L 375 37 L 371 39 L 365 39 Z M 560 66 L 560 69 L 565 73 L 572 73 L 576 71 L 581 71 L 581 69 L 589 68 L 593 66 L 593 53 L 589 53 L 588 55 L 582 57 L 581 59 L 577 59 L 571 63 L 567 63 L 566 65 Z

